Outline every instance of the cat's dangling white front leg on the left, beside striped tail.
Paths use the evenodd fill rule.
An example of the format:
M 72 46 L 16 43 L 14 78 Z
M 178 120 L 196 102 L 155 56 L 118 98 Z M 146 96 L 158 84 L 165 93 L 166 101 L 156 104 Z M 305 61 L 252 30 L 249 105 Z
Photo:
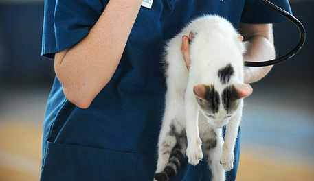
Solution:
M 192 165 L 197 165 L 203 158 L 201 150 L 201 139 L 199 138 L 199 110 L 194 93 L 186 93 L 186 136 L 188 138 L 188 148 L 186 156 L 188 162 Z

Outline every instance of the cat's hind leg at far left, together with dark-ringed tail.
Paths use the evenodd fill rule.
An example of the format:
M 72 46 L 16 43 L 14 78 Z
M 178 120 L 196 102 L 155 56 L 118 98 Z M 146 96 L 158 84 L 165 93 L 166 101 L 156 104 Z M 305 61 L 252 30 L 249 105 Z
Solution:
M 166 181 L 177 174 L 186 152 L 186 130 L 183 93 L 168 86 L 166 110 L 158 143 L 155 180 Z

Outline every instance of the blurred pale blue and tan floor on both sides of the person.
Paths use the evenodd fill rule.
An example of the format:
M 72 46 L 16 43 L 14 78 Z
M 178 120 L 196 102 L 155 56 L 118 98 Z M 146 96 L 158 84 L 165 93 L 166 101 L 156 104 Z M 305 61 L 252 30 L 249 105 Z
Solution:
M 314 180 L 313 88 L 254 86 L 245 100 L 237 180 Z M 0 181 L 38 180 L 49 90 L 2 90 Z M 293 94 L 293 95 L 292 95 Z

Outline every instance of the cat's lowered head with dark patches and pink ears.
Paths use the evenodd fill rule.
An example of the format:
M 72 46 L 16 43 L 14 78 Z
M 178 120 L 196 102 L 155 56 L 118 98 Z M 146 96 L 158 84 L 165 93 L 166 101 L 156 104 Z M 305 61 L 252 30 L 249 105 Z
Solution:
M 222 128 L 234 117 L 241 99 L 251 95 L 249 84 L 229 84 L 219 93 L 213 85 L 194 86 L 194 94 L 203 115 L 215 128 Z

